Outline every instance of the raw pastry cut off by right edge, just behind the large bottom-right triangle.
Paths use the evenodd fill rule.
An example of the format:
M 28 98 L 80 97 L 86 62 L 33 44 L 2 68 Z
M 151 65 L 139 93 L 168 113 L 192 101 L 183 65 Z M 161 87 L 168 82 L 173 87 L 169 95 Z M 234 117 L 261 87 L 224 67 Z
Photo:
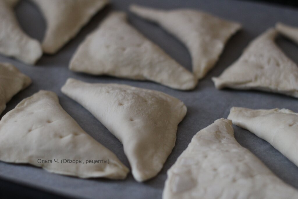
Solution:
M 269 142 L 298 166 L 298 113 L 288 109 L 232 107 L 228 119 Z

